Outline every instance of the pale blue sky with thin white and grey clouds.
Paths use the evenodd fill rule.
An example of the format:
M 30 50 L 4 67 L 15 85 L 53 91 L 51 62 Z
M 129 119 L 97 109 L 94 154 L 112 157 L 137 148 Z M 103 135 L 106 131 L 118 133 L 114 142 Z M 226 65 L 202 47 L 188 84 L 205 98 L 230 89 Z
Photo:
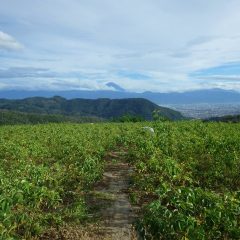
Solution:
M 239 0 L 0 0 L 0 89 L 240 91 Z

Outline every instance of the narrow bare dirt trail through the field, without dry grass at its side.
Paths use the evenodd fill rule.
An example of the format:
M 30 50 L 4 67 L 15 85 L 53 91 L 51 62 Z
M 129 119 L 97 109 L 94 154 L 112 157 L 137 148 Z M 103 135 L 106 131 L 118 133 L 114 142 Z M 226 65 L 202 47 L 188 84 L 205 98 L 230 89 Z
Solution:
M 103 179 L 92 193 L 92 204 L 98 215 L 93 217 L 99 217 L 101 239 L 137 239 L 133 227 L 136 215 L 128 196 L 133 169 L 125 161 L 125 154 L 124 151 L 108 154 Z

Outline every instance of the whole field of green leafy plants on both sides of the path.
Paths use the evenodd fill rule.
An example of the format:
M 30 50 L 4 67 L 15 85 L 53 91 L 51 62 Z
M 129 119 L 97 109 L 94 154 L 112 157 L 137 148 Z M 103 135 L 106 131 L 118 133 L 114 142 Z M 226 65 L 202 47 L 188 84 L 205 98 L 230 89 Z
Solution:
M 0 127 L 0 239 L 89 222 L 85 196 L 118 148 L 146 239 L 240 239 L 240 124 L 200 121 Z

